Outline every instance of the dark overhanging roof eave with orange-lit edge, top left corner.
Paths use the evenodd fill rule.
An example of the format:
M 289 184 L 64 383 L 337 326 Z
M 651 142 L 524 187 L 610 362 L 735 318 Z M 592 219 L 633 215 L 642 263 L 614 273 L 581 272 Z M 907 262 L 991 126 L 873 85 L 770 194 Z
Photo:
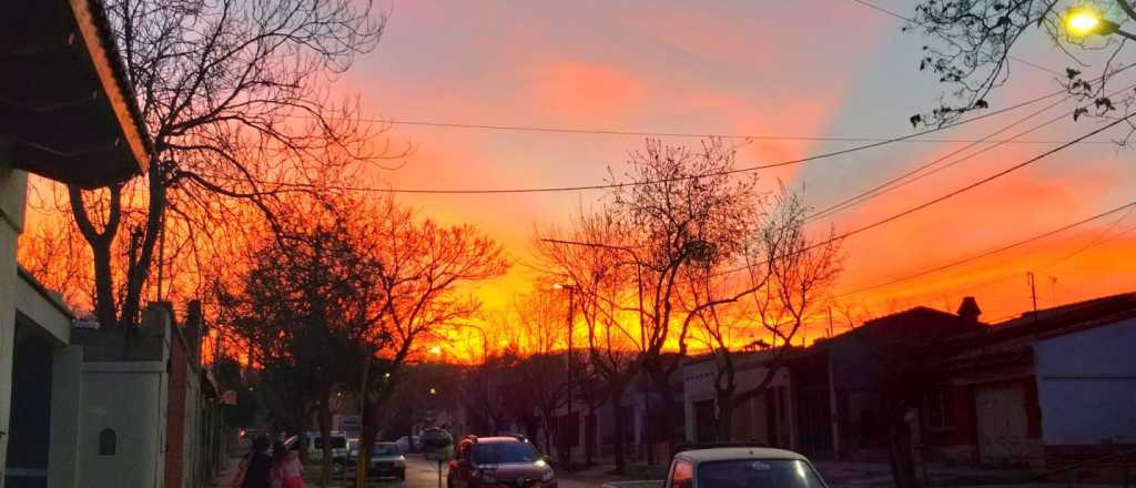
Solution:
M 5 6 L 0 67 L 16 168 L 87 188 L 145 170 L 150 141 L 98 0 Z

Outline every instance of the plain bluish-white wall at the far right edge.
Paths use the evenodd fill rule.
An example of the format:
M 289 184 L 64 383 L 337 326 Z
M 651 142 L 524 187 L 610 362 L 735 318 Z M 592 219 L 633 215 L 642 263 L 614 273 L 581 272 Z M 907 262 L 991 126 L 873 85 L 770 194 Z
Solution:
M 1034 345 L 1046 445 L 1136 444 L 1136 319 Z

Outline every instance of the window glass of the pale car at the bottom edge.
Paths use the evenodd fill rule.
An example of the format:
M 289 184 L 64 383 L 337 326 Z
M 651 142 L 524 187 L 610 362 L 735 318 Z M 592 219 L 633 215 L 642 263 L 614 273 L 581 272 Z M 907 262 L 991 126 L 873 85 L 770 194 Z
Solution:
M 792 460 L 707 462 L 696 476 L 707 488 L 824 488 L 812 466 Z

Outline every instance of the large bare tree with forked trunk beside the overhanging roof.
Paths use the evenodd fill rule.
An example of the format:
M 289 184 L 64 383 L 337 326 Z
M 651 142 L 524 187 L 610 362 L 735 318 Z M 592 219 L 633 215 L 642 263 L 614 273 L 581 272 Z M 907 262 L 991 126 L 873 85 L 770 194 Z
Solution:
M 128 327 L 167 234 L 184 243 L 250 209 L 270 216 L 281 192 L 327 183 L 320 169 L 384 154 L 358 103 L 331 102 L 328 79 L 375 48 L 385 16 L 352 0 L 111 0 L 106 11 L 152 157 L 142 179 L 67 193 L 91 247 L 95 315 Z

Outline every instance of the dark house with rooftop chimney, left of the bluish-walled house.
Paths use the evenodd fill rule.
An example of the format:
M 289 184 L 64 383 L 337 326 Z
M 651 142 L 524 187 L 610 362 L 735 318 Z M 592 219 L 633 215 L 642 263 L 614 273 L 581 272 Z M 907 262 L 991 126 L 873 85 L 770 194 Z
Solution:
M 983 330 L 978 313 L 974 298 L 959 314 L 918 306 L 818 340 L 792 359 L 792 446 L 813 457 L 886 461 L 886 434 L 905 414 L 916 359 Z

